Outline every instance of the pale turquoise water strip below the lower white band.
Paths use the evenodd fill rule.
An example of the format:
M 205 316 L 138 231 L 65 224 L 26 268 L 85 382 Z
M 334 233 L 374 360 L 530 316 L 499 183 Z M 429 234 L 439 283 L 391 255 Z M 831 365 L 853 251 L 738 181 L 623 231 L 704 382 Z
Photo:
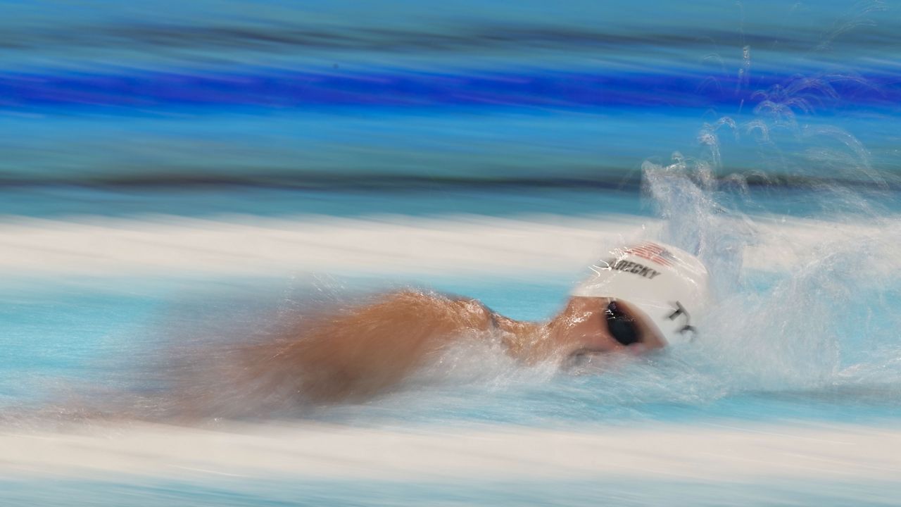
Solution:
M 68 505 L 65 498 L 93 497 L 96 504 L 127 506 L 205 505 L 896 505 L 896 484 L 873 482 L 736 482 L 702 484 L 660 481 L 548 481 L 531 484 L 254 481 L 228 484 L 159 482 L 122 484 L 51 480 L 35 493 L 32 484 L 5 482 L 0 499 L 11 504 Z M 89 504 L 89 503 L 88 503 Z

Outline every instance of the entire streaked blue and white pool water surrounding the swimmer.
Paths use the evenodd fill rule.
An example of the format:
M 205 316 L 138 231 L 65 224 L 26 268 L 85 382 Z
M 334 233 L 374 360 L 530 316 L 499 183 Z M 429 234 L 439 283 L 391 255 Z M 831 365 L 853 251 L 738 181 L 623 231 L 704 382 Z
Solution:
M 896 503 L 895 5 L 0 9 L 0 503 Z M 215 376 L 361 292 L 550 318 L 636 238 L 710 268 L 695 343 Z

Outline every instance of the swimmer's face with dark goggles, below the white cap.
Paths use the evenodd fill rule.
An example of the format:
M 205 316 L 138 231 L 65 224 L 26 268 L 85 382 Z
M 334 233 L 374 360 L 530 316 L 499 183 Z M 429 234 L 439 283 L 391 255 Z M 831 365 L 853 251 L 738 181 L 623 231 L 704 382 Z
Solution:
M 551 323 L 551 334 L 567 357 L 641 354 L 666 344 L 641 311 L 611 298 L 571 298 Z

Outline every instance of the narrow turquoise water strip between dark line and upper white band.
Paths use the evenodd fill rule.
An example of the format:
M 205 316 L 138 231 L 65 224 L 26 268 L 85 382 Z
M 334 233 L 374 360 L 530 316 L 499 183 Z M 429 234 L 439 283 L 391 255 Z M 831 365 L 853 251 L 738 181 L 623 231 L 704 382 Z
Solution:
M 641 172 L 639 171 L 639 174 Z M 351 182 L 352 183 L 352 182 Z M 17 187 L 0 190 L 0 211 L 7 217 L 73 220 L 91 217 L 174 216 L 210 218 L 250 217 L 522 217 L 556 215 L 596 217 L 629 215 L 655 217 L 658 208 L 642 198 L 640 184 L 625 180 L 611 185 L 574 185 L 572 189 L 533 186 L 435 188 L 428 183 L 403 189 L 290 189 L 241 186 L 161 189 L 103 189 L 95 187 Z M 866 219 L 872 214 L 901 212 L 896 189 L 868 189 L 837 185 L 813 188 L 727 188 L 716 197 L 724 205 L 747 213 L 818 219 Z M 849 192 L 851 194 L 849 195 Z M 228 219 L 228 218 L 226 218 Z

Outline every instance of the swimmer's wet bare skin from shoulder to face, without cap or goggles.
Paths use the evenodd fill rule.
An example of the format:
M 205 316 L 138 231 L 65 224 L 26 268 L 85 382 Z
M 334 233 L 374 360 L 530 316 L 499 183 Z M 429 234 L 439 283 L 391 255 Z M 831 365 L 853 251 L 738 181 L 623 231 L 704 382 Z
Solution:
M 364 401 L 389 391 L 445 347 L 465 339 L 499 337 L 507 354 L 525 364 L 584 354 L 637 354 L 664 345 L 638 315 L 641 343 L 618 343 L 606 325 L 609 302 L 574 297 L 550 321 L 524 322 L 498 315 L 478 300 L 396 292 L 305 319 L 290 327 L 278 345 L 254 347 L 242 369 L 265 379 L 273 390 L 287 388 L 311 401 Z M 617 304 L 633 312 L 627 304 Z

